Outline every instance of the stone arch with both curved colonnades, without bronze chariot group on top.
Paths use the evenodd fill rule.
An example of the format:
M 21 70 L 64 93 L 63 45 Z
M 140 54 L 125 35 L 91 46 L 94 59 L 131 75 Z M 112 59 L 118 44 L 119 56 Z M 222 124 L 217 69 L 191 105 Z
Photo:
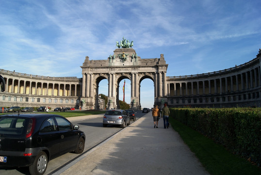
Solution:
M 108 80 L 108 106 L 119 108 L 119 83 L 131 82 L 131 108 L 140 109 L 140 83 L 154 82 L 154 104 L 171 107 L 261 106 L 261 51 L 243 65 L 226 70 L 185 76 L 166 76 L 168 65 L 160 58 L 141 59 L 134 49 L 115 49 L 105 60 L 89 60 L 81 66 L 82 78 L 47 77 L 0 70 L 6 91 L 1 106 L 103 109 L 98 84 Z M 84 103 L 83 103 L 84 102 Z

